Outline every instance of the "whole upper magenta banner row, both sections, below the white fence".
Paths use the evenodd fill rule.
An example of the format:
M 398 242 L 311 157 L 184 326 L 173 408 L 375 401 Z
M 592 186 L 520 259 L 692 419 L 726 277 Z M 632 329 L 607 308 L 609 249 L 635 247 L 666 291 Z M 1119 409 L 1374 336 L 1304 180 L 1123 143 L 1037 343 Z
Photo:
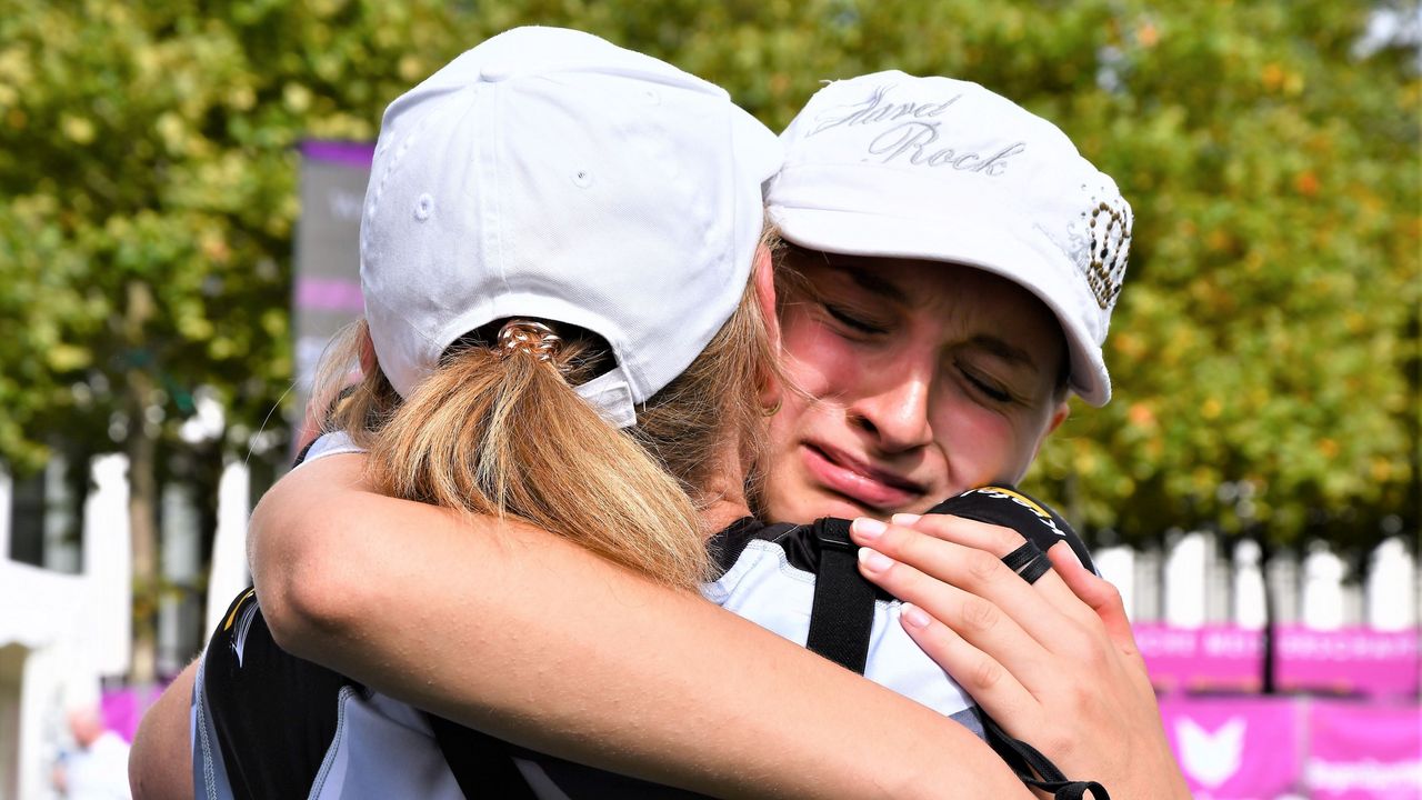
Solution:
M 1257 692 L 1264 633 L 1233 625 L 1135 626 L 1150 680 L 1162 692 Z M 1280 689 L 1341 695 L 1416 696 L 1422 675 L 1418 631 L 1278 626 L 1274 678 Z

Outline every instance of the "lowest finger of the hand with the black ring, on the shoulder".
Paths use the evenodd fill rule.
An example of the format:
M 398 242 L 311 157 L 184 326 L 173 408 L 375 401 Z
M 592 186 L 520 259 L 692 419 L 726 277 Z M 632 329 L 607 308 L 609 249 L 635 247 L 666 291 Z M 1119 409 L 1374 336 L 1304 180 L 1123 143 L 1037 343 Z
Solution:
M 921 608 L 903 604 L 899 622 L 909 638 L 991 716 L 1012 720 L 1041 716 L 1041 703 L 1011 672 Z

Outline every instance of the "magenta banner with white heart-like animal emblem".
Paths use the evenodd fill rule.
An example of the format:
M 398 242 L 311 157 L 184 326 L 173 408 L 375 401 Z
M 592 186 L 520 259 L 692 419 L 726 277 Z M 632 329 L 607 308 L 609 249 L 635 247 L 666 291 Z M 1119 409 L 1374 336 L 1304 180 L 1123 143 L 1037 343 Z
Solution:
M 1301 732 L 1288 698 L 1166 699 L 1160 715 L 1196 800 L 1273 800 L 1297 781 Z

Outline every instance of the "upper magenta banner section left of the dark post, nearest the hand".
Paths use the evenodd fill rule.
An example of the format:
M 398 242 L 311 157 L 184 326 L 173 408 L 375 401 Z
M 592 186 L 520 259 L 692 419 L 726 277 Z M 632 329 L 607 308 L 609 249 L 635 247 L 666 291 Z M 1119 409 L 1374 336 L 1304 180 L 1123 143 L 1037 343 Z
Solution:
M 1150 682 L 1163 692 L 1257 692 L 1263 682 L 1263 635 L 1236 626 L 1135 625 Z

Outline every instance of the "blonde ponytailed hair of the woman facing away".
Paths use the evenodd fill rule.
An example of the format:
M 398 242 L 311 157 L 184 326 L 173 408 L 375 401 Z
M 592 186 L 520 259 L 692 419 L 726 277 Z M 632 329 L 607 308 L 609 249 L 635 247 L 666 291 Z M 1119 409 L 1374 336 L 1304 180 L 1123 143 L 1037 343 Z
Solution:
M 695 589 L 711 574 L 698 511 L 734 441 L 757 498 L 761 389 L 781 376 L 754 282 L 701 354 L 617 430 L 572 386 L 611 362 L 606 343 L 560 329 L 547 362 L 479 342 L 451 346 L 401 400 L 371 370 L 344 390 L 364 320 L 333 342 L 311 409 L 324 431 L 370 451 L 367 475 L 392 497 L 513 517 L 656 581 Z

